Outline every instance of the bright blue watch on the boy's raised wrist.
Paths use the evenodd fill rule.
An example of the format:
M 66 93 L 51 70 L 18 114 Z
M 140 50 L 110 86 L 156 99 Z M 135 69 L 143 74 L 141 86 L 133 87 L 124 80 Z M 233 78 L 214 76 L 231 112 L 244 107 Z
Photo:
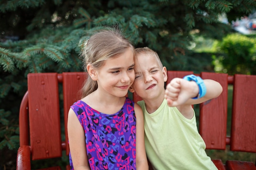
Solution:
M 204 97 L 207 90 L 206 90 L 206 86 L 204 84 L 204 80 L 201 77 L 191 74 L 191 75 L 186 75 L 185 77 L 183 77 L 183 79 L 186 79 L 188 81 L 194 81 L 194 82 L 196 82 L 196 84 L 199 87 L 198 96 L 193 97 L 192 99 L 200 99 L 201 97 Z

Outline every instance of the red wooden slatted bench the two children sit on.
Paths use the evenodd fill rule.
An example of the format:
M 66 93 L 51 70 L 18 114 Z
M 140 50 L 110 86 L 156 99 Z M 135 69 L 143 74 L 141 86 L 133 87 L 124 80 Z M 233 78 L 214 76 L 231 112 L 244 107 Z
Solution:
M 168 71 L 169 82 L 191 71 Z M 234 75 L 202 72 L 203 79 L 214 79 L 223 87 L 216 99 L 200 104 L 199 132 L 207 149 L 256 153 L 256 75 Z M 31 161 L 68 157 L 67 113 L 80 99 L 79 89 L 86 75 L 72 73 L 29 73 L 28 91 L 20 104 L 20 148 L 17 170 L 31 170 Z M 227 136 L 228 84 L 233 84 L 231 135 Z M 134 94 L 133 100 L 140 98 Z M 62 109 L 63 108 L 63 109 Z M 62 119 L 61 117 L 64 117 Z M 61 122 L 61 121 L 64 122 Z M 62 132 L 64 126 L 64 132 Z M 61 135 L 65 134 L 65 139 Z M 213 160 L 219 170 L 256 170 L 255 162 Z M 44 167 L 60 170 L 60 166 Z M 69 165 L 66 166 L 69 170 Z

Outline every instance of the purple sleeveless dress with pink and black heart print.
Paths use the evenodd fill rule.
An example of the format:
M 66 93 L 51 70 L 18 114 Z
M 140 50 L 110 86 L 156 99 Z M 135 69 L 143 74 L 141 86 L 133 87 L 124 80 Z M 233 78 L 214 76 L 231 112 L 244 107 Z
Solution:
M 134 102 L 115 114 L 100 113 L 79 100 L 71 108 L 83 126 L 91 170 L 136 170 Z M 70 167 L 74 170 L 70 155 Z

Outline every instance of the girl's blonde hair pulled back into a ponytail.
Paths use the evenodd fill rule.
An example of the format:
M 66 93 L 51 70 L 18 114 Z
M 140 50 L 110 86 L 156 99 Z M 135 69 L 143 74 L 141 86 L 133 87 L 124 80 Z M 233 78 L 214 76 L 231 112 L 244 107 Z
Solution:
M 134 47 L 117 29 L 101 30 L 90 37 L 84 44 L 81 51 L 83 69 L 91 64 L 95 69 L 101 68 L 104 61 L 116 57 L 130 48 L 135 54 Z M 87 77 L 82 90 L 82 98 L 97 90 L 97 81 Z

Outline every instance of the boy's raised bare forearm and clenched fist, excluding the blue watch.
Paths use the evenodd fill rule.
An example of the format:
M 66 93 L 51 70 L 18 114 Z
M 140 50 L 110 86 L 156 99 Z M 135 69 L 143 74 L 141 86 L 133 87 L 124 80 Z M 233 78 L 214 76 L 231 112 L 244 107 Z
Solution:
M 200 99 L 192 99 L 197 97 L 199 87 L 194 81 L 188 81 L 182 78 L 174 78 L 166 86 L 165 98 L 168 106 L 193 105 L 200 104 L 209 99 L 218 97 L 222 93 L 220 83 L 212 79 L 204 79 L 206 86 L 206 94 Z

